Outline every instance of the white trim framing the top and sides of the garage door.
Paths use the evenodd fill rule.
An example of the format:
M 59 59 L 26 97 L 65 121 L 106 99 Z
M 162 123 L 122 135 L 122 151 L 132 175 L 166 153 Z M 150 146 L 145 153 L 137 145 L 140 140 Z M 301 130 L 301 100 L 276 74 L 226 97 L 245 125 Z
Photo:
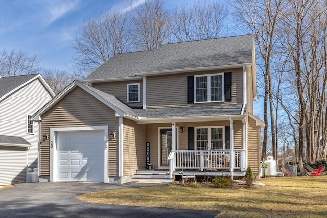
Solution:
M 57 181 L 57 132 L 66 131 L 87 131 L 103 130 L 104 131 L 104 183 L 109 182 L 108 178 L 108 126 L 86 126 L 86 127 L 55 127 L 50 128 L 50 181 Z M 40 171 L 40 169 L 38 169 Z

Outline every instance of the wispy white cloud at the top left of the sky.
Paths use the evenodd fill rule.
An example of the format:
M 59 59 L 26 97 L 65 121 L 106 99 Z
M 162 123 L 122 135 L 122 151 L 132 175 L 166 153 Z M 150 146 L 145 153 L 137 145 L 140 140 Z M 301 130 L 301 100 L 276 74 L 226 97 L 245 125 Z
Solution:
M 69 11 L 73 10 L 74 7 L 79 3 L 79 0 L 70 1 L 49 1 L 48 9 L 48 20 L 46 20 L 46 26 L 56 21 Z

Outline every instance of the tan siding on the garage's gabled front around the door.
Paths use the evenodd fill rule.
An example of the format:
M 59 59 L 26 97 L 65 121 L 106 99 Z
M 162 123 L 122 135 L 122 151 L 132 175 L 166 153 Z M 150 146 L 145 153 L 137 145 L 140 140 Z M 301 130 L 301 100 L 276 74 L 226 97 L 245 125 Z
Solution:
M 109 125 L 109 133 L 116 132 L 117 137 L 108 142 L 108 176 L 118 175 L 118 117 L 115 111 L 104 105 L 80 87 L 76 87 L 65 98 L 42 115 L 41 137 L 50 136 L 52 127 L 80 127 Z M 41 143 L 40 173 L 49 175 L 49 141 Z

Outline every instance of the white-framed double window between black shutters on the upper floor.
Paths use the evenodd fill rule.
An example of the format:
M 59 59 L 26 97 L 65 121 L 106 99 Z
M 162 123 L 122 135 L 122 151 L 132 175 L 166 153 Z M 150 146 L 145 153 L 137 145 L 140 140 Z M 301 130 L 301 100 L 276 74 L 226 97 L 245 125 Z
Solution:
M 198 75 L 195 77 L 195 102 L 224 101 L 224 74 Z

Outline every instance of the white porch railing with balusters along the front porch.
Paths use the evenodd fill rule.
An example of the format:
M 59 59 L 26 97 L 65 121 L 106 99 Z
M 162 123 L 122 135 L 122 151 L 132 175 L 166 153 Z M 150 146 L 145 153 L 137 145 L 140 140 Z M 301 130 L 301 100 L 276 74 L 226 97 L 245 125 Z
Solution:
M 245 151 L 234 149 L 233 169 L 245 171 Z M 230 150 L 176 150 L 169 154 L 171 178 L 175 169 L 230 169 Z

